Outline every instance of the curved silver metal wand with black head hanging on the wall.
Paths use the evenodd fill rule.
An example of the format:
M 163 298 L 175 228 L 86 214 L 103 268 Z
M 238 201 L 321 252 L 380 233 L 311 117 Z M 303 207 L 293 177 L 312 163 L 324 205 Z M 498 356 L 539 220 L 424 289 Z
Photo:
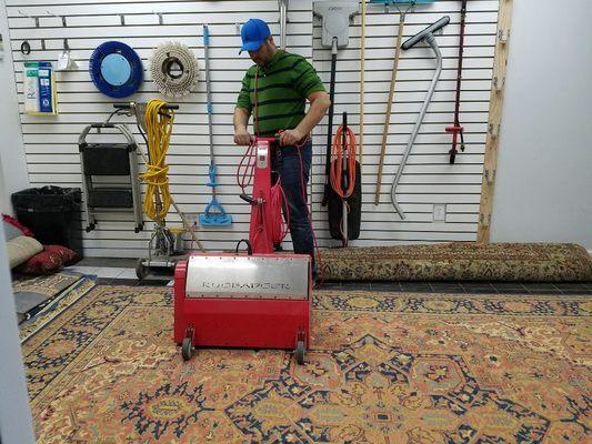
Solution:
M 394 210 L 399 213 L 401 219 L 405 219 L 405 214 L 403 213 L 403 210 L 401 206 L 399 206 L 399 203 L 397 202 L 397 185 L 399 184 L 399 181 L 401 180 L 401 175 L 403 174 L 403 169 L 405 168 L 407 160 L 409 158 L 409 154 L 411 153 L 411 149 L 413 148 L 413 143 L 415 142 L 415 138 L 418 137 L 418 133 L 420 131 L 421 123 L 423 122 L 423 118 L 425 117 L 425 113 L 428 112 L 428 107 L 430 105 L 430 101 L 432 100 L 432 95 L 435 91 L 435 84 L 438 83 L 438 80 L 440 79 L 440 73 L 442 72 L 442 53 L 440 52 L 440 48 L 438 47 L 438 43 L 435 41 L 434 32 L 445 27 L 448 23 L 450 23 L 450 17 L 445 16 L 442 17 L 440 20 L 438 20 L 435 23 L 430 24 L 424 30 L 418 32 L 415 36 L 407 40 L 401 48 L 403 50 L 408 50 L 413 48 L 415 44 L 418 44 L 421 41 L 425 41 L 432 51 L 435 54 L 437 59 L 437 65 L 434 75 L 432 78 L 432 82 L 430 84 L 430 89 L 428 90 L 428 94 L 425 95 L 425 100 L 423 101 L 423 105 L 421 107 L 420 115 L 418 117 L 418 121 L 415 122 L 415 125 L 413 127 L 413 131 L 411 132 L 411 137 L 409 138 L 409 142 L 407 144 L 405 152 L 403 154 L 403 159 L 401 160 L 401 163 L 399 164 L 399 169 L 397 170 L 397 174 L 394 176 L 394 180 L 392 182 L 391 186 L 391 202 L 394 206 Z

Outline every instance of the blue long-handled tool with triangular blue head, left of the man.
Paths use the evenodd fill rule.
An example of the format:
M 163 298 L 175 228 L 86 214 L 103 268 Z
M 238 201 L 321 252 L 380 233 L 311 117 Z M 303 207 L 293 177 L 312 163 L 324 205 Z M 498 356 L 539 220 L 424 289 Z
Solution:
M 205 94 L 208 100 L 208 132 L 210 139 L 210 168 L 208 186 L 212 190 L 212 199 L 199 215 L 201 226 L 228 226 L 232 223 L 232 218 L 225 213 L 224 208 L 215 198 L 215 160 L 213 154 L 213 130 L 212 130 L 212 93 L 210 87 L 210 30 L 208 24 L 203 24 L 203 58 L 205 61 Z

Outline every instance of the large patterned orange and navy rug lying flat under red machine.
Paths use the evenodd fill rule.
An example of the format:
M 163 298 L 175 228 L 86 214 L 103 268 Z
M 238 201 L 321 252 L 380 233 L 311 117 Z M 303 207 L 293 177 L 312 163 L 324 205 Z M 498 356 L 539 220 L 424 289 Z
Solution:
M 313 351 L 172 343 L 97 286 L 23 345 L 39 443 L 590 443 L 592 299 L 320 291 Z

